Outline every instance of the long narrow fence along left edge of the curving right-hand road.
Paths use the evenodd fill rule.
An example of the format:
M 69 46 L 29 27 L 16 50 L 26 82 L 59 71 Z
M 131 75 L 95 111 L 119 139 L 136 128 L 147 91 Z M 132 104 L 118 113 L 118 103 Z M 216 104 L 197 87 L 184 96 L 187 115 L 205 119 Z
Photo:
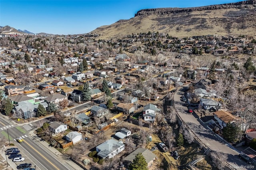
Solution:
M 178 89 L 176 89 L 176 91 L 174 92 L 174 94 L 178 91 Z M 173 95 L 174 97 L 174 95 Z M 188 127 L 188 125 L 186 125 L 186 123 L 181 119 L 180 115 L 178 114 L 177 110 L 175 109 L 175 106 L 174 106 L 174 99 L 172 97 L 172 106 L 174 107 L 174 110 L 176 111 L 176 115 L 177 117 L 180 119 L 181 123 L 184 125 L 184 127 L 193 135 L 193 137 L 195 138 L 195 140 L 197 140 L 206 150 L 209 150 L 210 152 L 212 152 L 212 150 L 206 145 L 204 144 L 204 142 L 202 142 L 202 140 L 200 140 L 196 134 L 194 134 L 194 132 Z M 234 168 L 233 165 L 229 164 L 228 162 L 225 162 L 225 165 L 232 169 L 232 170 L 236 170 L 236 168 Z

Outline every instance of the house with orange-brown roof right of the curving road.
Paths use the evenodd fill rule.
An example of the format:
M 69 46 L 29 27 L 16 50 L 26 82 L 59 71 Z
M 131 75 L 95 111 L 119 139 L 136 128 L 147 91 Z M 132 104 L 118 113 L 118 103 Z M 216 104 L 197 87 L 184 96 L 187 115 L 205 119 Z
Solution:
M 236 116 L 223 110 L 216 111 L 214 113 L 214 119 L 218 121 L 221 128 L 226 127 L 228 123 L 238 121 Z

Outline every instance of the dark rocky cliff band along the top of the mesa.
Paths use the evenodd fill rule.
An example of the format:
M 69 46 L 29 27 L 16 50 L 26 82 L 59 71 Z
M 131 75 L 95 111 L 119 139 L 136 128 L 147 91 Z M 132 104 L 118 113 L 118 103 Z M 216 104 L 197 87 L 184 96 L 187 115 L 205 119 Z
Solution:
M 236 3 L 221 4 L 221 5 L 210 5 L 195 8 L 154 8 L 139 10 L 135 16 L 149 15 L 149 14 L 170 14 L 170 13 L 181 13 L 181 12 L 193 12 L 193 11 L 204 11 L 204 10 L 221 10 L 230 8 L 248 8 L 247 5 L 256 4 L 256 0 L 246 0 Z

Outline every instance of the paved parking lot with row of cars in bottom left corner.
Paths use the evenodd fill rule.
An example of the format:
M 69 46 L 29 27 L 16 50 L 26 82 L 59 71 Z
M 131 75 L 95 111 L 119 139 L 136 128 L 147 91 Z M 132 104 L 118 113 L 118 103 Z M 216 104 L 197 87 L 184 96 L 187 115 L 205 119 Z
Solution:
M 10 148 L 10 147 L 8 147 L 8 148 Z M 8 149 L 8 148 L 6 148 L 6 149 Z M 15 148 L 16 148 L 16 147 L 15 147 Z M 6 149 L 5 149 L 5 150 L 6 150 Z M 4 150 L 4 151 L 5 151 L 5 150 Z M 5 152 L 4 154 L 6 154 L 6 156 L 4 156 L 4 157 L 7 158 L 8 164 L 10 164 L 10 166 L 11 166 L 13 169 L 17 169 L 17 166 L 18 166 L 18 165 L 24 164 L 24 163 L 32 164 L 32 166 L 31 166 L 30 168 L 35 168 L 34 162 L 32 162 L 32 160 L 30 160 L 30 158 L 28 158 L 28 156 L 27 156 L 24 152 L 22 152 L 22 150 L 20 150 L 19 148 L 18 148 L 18 150 L 20 151 L 18 154 L 20 154 L 20 155 L 21 155 L 21 158 L 24 158 L 24 160 L 22 159 L 23 161 L 21 161 L 21 162 L 13 162 L 14 158 L 9 158 L 9 156 L 11 156 L 11 154 L 6 154 L 6 152 Z M 36 169 L 37 169 L 37 170 L 40 170 L 40 168 L 38 168 L 38 167 L 36 167 Z

